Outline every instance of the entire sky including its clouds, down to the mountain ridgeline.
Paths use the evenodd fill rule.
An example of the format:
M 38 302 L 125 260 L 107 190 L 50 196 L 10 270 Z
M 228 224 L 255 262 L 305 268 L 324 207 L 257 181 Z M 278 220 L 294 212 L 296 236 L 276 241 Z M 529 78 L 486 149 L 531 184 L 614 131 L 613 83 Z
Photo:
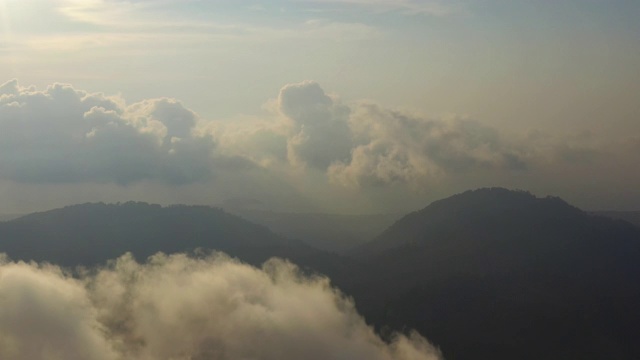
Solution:
M 0 0 L 0 213 L 640 210 L 637 1 Z

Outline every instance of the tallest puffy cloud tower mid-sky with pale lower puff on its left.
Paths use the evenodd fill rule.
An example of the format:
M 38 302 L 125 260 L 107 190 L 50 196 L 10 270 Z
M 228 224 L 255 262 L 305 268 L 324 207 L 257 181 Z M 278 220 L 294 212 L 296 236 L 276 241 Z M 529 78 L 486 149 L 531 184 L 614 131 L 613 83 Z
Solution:
M 353 146 L 350 108 L 327 95 L 313 81 L 287 84 L 269 105 L 270 119 L 236 119 L 209 124 L 220 151 L 264 166 L 285 163 L 324 172 L 335 161 L 348 161 Z

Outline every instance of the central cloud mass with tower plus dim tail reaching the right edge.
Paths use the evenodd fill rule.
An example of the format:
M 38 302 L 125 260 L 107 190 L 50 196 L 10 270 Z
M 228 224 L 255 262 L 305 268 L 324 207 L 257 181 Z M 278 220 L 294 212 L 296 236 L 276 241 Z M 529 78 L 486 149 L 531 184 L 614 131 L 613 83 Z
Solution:
M 443 184 L 457 184 L 444 194 L 478 184 L 529 188 L 539 183 L 536 174 L 601 167 L 612 157 L 629 160 L 629 150 L 588 131 L 503 134 L 455 115 L 429 118 L 373 103 L 345 104 L 310 81 L 286 85 L 270 105 L 272 118 L 245 119 L 212 132 L 219 150 L 283 174 L 314 170 L 310 174 L 346 188 L 393 188 L 394 196 L 401 188 L 415 193 Z M 546 182 L 557 183 L 570 177 L 545 175 Z

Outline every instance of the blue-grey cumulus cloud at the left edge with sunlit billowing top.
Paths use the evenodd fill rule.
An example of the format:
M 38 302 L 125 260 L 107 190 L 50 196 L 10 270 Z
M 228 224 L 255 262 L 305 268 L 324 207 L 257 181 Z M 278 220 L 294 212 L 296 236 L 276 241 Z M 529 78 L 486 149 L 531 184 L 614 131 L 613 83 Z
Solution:
M 0 176 L 19 182 L 188 183 L 211 172 L 210 137 L 173 99 L 126 105 L 71 85 L 0 86 Z

